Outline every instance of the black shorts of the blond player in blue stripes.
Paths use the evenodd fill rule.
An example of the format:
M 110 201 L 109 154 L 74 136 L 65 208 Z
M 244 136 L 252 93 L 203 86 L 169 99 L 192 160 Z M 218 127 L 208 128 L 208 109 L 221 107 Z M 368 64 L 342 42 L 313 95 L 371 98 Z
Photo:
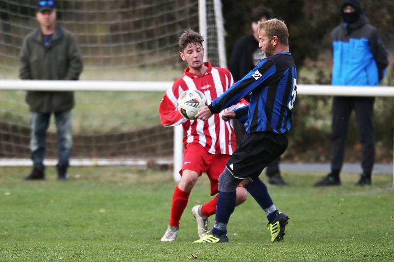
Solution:
M 284 134 L 245 132 L 239 146 L 227 161 L 226 167 L 236 178 L 253 180 L 266 166 L 285 152 L 287 144 L 288 140 Z

